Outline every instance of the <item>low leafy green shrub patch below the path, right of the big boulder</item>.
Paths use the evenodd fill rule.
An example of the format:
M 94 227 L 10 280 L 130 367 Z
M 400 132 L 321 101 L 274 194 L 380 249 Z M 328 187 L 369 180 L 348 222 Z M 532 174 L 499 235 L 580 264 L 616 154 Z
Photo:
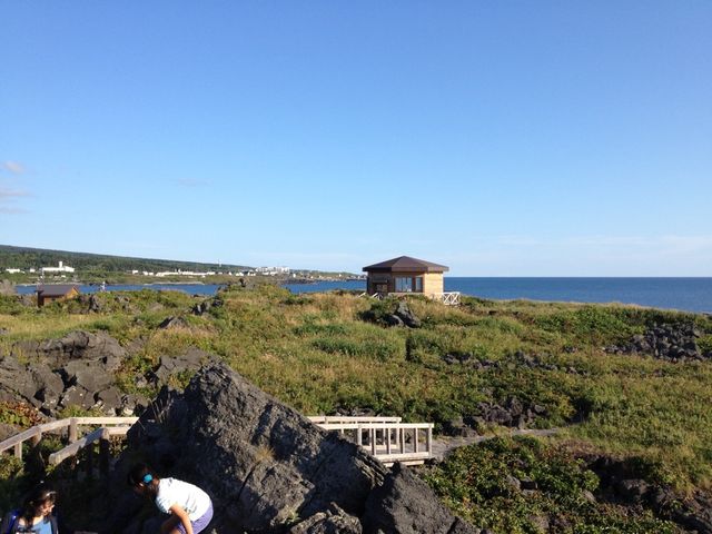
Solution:
M 673 533 L 650 513 L 592 502 L 597 476 L 571 453 L 533 438 L 495 438 L 455 451 L 424 474 L 453 511 L 496 533 L 540 532 L 534 517 L 561 518 L 576 533 Z M 535 491 L 523 491 L 527 481 Z

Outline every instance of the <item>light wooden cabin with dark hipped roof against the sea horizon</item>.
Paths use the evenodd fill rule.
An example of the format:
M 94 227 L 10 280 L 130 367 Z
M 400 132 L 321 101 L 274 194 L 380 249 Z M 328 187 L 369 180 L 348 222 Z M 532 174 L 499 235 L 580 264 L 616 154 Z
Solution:
M 363 270 L 368 274 L 368 295 L 421 293 L 432 297 L 444 294 L 443 273 L 449 269 L 444 265 L 400 256 L 369 265 Z

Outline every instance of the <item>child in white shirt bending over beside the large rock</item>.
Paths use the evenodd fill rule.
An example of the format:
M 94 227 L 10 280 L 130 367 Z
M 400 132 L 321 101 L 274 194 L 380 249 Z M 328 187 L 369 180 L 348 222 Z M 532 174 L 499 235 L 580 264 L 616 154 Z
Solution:
M 136 464 L 128 474 L 131 488 L 154 500 L 158 510 L 170 517 L 161 534 L 198 534 L 212 520 L 212 502 L 198 486 L 177 478 L 159 478 L 146 464 Z

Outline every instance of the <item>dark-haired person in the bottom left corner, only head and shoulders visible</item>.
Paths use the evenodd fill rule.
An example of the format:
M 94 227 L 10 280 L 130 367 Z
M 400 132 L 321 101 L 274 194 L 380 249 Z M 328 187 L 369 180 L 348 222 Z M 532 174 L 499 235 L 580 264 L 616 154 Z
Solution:
M 52 515 L 57 492 L 46 483 L 32 490 L 21 510 L 9 512 L 0 525 L 1 534 L 58 534 L 57 518 Z

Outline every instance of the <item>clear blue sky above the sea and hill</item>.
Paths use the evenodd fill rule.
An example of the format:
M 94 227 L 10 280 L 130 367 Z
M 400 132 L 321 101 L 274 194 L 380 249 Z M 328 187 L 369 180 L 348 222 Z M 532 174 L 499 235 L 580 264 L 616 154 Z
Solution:
M 712 2 L 4 1 L 0 244 L 712 276 Z

